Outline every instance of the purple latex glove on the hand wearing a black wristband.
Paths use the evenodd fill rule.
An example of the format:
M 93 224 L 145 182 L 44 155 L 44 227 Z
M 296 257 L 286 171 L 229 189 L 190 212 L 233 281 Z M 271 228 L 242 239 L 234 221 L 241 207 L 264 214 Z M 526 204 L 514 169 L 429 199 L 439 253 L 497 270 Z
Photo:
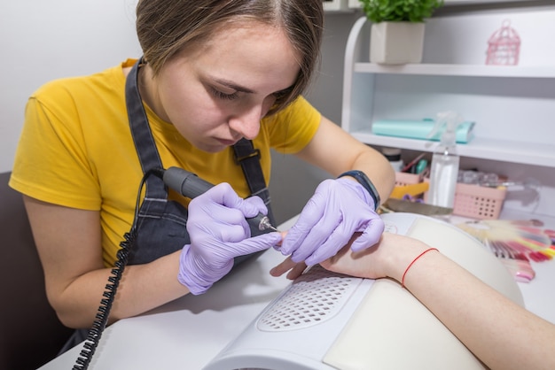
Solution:
M 335 256 L 356 232 L 352 251 L 379 242 L 384 222 L 374 211 L 374 200 L 363 186 L 347 177 L 325 180 L 302 209 L 299 220 L 285 235 L 279 248 L 294 262 L 316 265 Z

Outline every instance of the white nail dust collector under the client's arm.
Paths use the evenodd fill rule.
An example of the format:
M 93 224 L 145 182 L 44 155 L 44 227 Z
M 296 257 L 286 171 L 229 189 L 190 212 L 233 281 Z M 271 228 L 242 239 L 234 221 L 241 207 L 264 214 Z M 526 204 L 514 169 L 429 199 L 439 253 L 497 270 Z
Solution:
M 523 305 L 512 275 L 473 236 L 412 213 L 387 213 L 382 218 L 387 231 L 437 248 Z M 396 281 L 354 278 L 315 266 L 293 281 L 205 370 L 483 368 Z

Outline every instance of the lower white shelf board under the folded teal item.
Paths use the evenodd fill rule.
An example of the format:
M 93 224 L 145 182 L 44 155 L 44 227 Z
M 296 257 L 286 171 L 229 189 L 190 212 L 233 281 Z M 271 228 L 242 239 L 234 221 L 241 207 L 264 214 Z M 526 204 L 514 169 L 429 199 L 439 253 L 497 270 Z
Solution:
M 402 137 L 373 135 L 370 130 L 351 132 L 357 140 L 377 146 L 403 148 L 417 151 L 433 151 L 437 142 L 405 139 Z M 538 145 L 513 141 L 474 138 L 471 143 L 457 144 L 460 156 L 500 160 L 504 162 L 555 166 L 555 145 Z

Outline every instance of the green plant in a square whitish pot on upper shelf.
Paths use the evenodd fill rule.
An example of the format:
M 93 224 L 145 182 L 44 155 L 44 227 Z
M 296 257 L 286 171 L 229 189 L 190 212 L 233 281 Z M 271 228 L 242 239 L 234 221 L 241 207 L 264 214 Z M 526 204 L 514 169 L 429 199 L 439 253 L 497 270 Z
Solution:
M 359 0 L 371 22 L 370 61 L 399 65 L 420 63 L 425 19 L 443 0 Z

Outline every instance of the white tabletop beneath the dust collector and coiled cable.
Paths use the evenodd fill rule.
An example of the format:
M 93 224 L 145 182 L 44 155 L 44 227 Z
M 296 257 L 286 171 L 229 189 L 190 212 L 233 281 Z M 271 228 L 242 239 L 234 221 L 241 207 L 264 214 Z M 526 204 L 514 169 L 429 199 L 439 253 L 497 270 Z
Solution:
M 287 229 L 292 220 L 280 229 Z M 106 328 L 90 369 L 201 369 L 239 335 L 270 301 L 289 285 L 270 276 L 283 257 L 269 250 L 243 263 L 202 296 L 186 296 L 152 312 Z M 533 264 L 536 277 L 519 283 L 531 312 L 555 323 L 555 261 Z M 70 369 L 82 345 L 41 367 Z

